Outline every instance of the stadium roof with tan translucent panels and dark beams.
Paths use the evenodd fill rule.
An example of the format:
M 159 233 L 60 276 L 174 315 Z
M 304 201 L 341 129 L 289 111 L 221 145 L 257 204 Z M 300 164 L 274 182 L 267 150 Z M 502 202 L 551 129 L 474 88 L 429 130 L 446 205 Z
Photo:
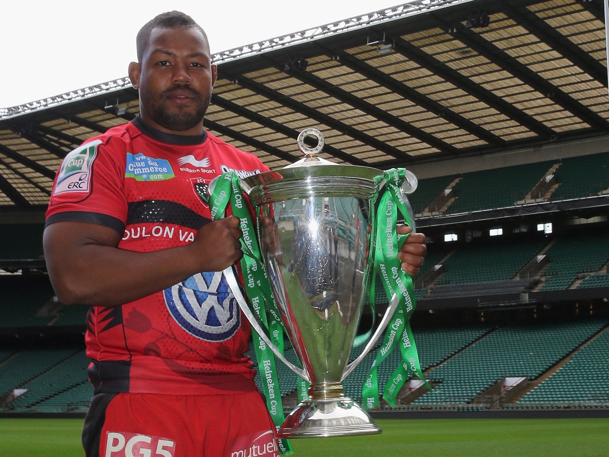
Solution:
M 420 0 L 215 54 L 204 124 L 271 168 L 306 127 L 376 168 L 606 135 L 606 58 L 602 0 Z M 0 208 L 46 205 L 62 158 L 137 97 L 122 78 L 0 110 Z

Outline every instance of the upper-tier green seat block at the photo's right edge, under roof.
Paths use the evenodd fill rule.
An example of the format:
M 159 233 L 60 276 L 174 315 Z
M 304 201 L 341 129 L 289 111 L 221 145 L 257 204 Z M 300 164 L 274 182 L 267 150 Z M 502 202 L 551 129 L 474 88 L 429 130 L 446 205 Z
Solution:
M 552 200 L 593 197 L 609 188 L 609 152 L 563 158 Z

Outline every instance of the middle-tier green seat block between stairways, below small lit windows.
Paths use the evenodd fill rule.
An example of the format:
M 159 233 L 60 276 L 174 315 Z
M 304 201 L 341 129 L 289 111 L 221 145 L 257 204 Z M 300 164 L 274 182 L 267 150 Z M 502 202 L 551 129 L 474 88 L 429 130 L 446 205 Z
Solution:
M 444 266 L 436 284 L 465 284 L 503 281 L 513 278 L 537 254 L 545 240 L 496 241 L 484 246 L 460 247 Z

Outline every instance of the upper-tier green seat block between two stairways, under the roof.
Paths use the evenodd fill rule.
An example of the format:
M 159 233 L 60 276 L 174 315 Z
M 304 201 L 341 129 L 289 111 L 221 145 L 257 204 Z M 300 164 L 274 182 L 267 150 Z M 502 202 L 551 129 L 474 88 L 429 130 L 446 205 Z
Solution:
M 513 206 L 526 197 L 552 165 L 554 161 L 543 161 L 464 173 L 453 188 L 456 199 L 446 208 L 446 214 Z

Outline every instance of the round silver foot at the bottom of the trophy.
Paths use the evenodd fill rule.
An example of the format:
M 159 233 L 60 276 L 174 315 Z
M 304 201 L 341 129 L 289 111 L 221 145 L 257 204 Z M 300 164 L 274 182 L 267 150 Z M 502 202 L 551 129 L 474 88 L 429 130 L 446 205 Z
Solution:
M 287 416 L 277 438 L 372 435 L 381 429 L 348 397 L 304 400 Z

